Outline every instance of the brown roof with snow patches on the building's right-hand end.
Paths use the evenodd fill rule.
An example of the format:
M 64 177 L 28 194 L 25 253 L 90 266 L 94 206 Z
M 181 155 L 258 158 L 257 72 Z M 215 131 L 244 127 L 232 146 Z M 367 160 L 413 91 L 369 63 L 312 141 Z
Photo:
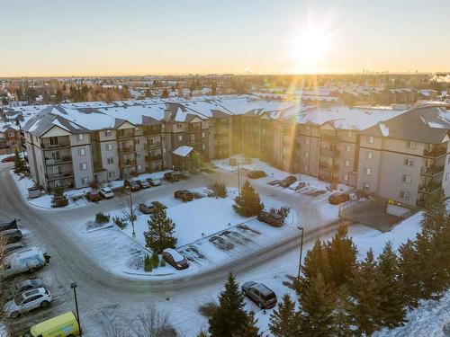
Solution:
M 418 107 L 385 120 L 362 134 L 390 137 L 419 143 L 440 144 L 450 130 L 450 112 L 439 107 Z

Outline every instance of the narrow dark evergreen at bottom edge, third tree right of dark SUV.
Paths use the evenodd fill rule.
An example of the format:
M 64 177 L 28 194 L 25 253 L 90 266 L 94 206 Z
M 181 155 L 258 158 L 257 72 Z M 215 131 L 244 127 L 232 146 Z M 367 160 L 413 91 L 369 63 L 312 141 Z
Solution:
M 352 330 L 353 317 L 349 302 L 349 291 L 347 285 L 342 285 L 336 293 L 335 309 L 333 311 L 333 325 L 335 337 L 354 336 Z

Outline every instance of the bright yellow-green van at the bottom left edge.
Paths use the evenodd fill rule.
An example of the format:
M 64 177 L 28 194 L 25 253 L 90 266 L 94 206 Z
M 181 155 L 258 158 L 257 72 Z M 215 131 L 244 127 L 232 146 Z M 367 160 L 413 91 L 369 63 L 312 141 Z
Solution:
M 47 321 L 31 326 L 29 337 L 75 337 L 80 335 L 76 315 L 72 312 L 58 315 Z

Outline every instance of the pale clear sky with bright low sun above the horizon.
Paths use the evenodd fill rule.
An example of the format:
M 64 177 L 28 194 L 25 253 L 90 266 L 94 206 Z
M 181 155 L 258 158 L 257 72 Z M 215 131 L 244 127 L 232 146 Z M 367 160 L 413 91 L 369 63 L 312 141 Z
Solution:
M 450 71 L 447 0 L 0 0 L 0 76 Z

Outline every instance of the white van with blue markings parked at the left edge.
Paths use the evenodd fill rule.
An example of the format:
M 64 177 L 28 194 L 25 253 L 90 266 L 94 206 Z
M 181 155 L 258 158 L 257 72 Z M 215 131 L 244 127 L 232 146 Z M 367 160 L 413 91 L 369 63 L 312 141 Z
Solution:
M 0 270 L 0 279 L 21 274 L 26 271 L 37 270 L 49 263 L 49 256 L 42 253 L 39 247 L 30 247 L 11 253 L 4 258 L 3 270 Z

